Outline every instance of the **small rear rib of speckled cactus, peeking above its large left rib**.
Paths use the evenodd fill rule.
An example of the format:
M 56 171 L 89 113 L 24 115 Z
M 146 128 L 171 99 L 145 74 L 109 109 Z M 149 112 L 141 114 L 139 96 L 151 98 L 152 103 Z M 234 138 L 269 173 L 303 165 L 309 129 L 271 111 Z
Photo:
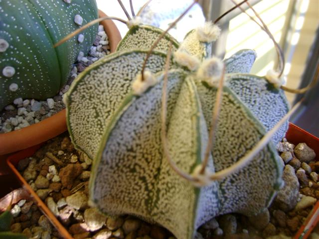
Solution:
M 123 51 L 127 49 L 143 48 L 149 49 L 153 45 L 154 41 L 162 34 L 163 31 L 160 28 L 149 25 L 136 25 L 130 28 L 128 33 L 120 41 L 117 51 Z M 155 48 L 155 50 L 162 50 L 167 52 L 169 42 L 172 43 L 172 51 L 175 51 L 179 44 L 169 34 L 165 34 Z

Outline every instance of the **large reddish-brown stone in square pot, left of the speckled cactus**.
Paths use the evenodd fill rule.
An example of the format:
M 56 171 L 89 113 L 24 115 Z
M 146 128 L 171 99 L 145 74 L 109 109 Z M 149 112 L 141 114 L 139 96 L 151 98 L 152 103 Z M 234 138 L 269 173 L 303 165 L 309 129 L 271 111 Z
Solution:
M 82 173 L 83 168 L 81 164 L 68 164 L 66 167 L 61 168 L 59 177 L 64 188 L 71 189 L 74 180 Z

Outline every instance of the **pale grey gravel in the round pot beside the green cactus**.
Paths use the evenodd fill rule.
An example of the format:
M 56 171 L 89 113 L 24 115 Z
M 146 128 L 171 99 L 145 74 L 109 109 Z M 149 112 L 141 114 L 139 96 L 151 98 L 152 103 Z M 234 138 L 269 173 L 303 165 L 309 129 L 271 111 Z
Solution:
M 17 98 L 13 104 L 8 105 L 0 112 L 0 133 L 17 130 L 33 123 L 46 119 L 65 108 L 63 95 L 70 88 L 70 84 L 87 66 L 110 53 L 110 46 L 103 25 L 99 25 L 96 39 L 88 53 L 80 52 L 77 61 L 73 64 L 67 84 L 57 96 L 46 101 Z

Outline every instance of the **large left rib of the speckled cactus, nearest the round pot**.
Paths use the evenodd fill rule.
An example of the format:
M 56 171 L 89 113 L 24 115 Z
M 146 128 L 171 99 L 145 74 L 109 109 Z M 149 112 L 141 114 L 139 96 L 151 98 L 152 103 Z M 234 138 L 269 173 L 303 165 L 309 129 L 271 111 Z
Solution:
M 91 158 L 96 155 L 105 125 L 130 93 L 146 55 L 147 50 L 138 49 L 111 54 L 82 72 L 66 94 L 70 136 L 76 147 Z M 165 57 L 163 52 L 154 51 L 147 69 L 153 73 L 160 71 Z

